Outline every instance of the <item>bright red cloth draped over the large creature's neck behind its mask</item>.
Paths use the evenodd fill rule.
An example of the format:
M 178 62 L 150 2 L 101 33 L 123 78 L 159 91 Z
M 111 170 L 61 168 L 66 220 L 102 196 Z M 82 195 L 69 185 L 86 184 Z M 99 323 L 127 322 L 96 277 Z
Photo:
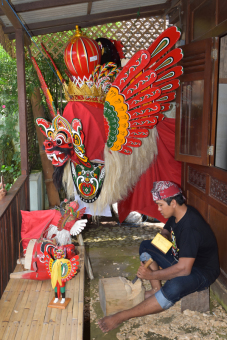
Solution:
M 93 159 L 103 160 L 103 151 L 106 143 L 103 105 L 69 102 L 65 107 L 63 117 L 66 118 L 70 124 L 74 118 L 80 119 L 85 136 L 85 155 L 90 161 Z

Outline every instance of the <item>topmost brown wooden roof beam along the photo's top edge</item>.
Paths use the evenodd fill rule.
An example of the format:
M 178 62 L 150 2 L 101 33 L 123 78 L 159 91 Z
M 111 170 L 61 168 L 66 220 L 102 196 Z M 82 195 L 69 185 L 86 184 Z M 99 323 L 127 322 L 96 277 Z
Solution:
M 77 4 L 96 2 L 96 1 L 101 1 L 101 0 L 64 0 L 64 1 L 41 0 L 41 1 L 26 2 L 26 3 L 14 5 L 14 8 L 17 13 L 22 13 L 22 12 L 35 11 L 37 9 L 45 9 L 45 8 L 60 7 L 60 6 L 67 6 L 67 5 L 77 5 Z

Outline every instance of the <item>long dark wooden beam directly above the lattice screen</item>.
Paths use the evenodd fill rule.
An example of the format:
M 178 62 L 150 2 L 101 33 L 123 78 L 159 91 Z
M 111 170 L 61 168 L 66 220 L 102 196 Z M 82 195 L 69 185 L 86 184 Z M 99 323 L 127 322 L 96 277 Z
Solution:
M 27 24 L 27 28 L 32 32 L 33 35 L 47 34 L 53 32 L 65 31 L 69 25 L 81 25 L 81 27 L 91 27 L 95 22 L 97 25 L 104 24 L 108 22 L 116 22 L 122 20 L 130 20 L 137 17 L 137 13 L 140 10 L 140 17 L 163 15 L 166 10 L 166 5 L 155 5 L 146 7 L 129 8 L 127 10 L 112 11 L 107 13 L 99 13 L 85 16 L 78 16 L 73 18 L 64 18 L 61 20 L 48 20 L 43 22 L 37 22 L 32 24 Z M 91 24 L 92 23 L 92 24 Z M 57 27 L 57 31 L 56 31 Z M 36 32 L 40 30 L 39 32 Z M 14 33 L 13 27 L 5 27 L 3 29 L 5 34 Z M 42 33 L 40 33 L 42 32 Z

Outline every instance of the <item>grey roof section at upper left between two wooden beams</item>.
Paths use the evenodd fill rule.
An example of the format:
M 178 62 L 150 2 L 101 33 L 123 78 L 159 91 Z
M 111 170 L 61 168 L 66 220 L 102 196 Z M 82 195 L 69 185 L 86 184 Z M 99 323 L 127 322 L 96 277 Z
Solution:
M 26 0 L 23 0 L 23 1 L 26 1 Z M 86 15 L 86 14 L 87 14 L 87 3 L 18 13 L 20 18 L 22 18 L 23 22 L 25 22 L 26 24 L 31 24 L 33 22 L 42 22 L 42 21 L 72 18 L 72 17 L 77 17 L 81 15 Z M 12 26 L 11 22 L 9 21 L 6 15 L 1 16 L 1 19 L 5 26 L 7 27 Z

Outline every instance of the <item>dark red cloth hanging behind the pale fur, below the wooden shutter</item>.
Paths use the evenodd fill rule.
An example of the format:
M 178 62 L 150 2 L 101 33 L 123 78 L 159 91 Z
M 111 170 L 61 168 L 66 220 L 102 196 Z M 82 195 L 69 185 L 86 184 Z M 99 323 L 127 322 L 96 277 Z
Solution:
M 123 222 L 131 211 L 138 211 L 165 223 L 166 219 L 159 213 L 152 198 L 153 182 L 171 181 L 181 185 L 181 162 L 174 159 L 175 119 L 165 118 L 157 124 L 157 130 L 158 155 L 149 169 L 140 177 L 133 192 L 118 204 L 120 222 Z

